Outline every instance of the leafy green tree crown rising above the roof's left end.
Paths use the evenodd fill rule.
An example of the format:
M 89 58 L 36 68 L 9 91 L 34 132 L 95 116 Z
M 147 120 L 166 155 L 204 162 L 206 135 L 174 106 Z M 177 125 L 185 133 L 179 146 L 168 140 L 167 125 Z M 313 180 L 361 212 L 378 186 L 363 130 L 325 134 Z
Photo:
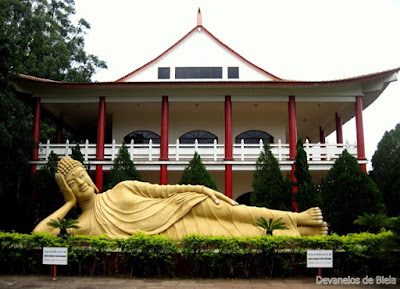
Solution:
M 1 0 L 1 55 L 7 69 L 60 81 L 88 82 L 104 61 L 84 50 L 90 25 L 72 22 L 74 0 Z M 4 42 L 3 42 L 4 41 Z

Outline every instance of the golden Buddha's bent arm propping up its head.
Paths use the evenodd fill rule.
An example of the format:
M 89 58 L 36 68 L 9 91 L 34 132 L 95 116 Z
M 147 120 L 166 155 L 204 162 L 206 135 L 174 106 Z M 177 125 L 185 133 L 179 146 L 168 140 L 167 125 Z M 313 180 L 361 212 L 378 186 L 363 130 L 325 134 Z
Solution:
M 33 230 L 33 233 L 49 232 L 52 234 L 58 234 L 59 229 L 53 228 L 47 225 L 48 222 L 58 219 L 62 220 L 68 214 L 68 212 L 76 205 L 76 197 L 71 189 L 68 187 L 64 176 L 61 174 L 56 174 L 56 181 L 60 187 L 61 192 L 64 195 L 65 204 L 59 208 L 57 211 L 52 213 L 47 218 L 43 219 Z

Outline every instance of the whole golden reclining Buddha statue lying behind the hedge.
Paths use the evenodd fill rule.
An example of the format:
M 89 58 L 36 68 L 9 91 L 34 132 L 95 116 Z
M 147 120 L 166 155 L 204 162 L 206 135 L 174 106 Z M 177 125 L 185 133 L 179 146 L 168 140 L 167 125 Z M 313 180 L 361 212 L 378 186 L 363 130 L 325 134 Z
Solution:
M 63 219 L 79 203 L 82 214 L 79 229 L 69 233 L 128 237 L 137 232 L 163 234 L 173 239 L 195 233 L 204 236 L 259 236 L 262 229 L 254 224 L 282 218 L 287 230 L 274 235 L 326 235 L 328 228 L 319 208 L 301 213 L 239 205 L 220 192 L 204 186 L 156 185 L 124 181 L 102 194 L 83 165 L 71 158 L 58 163 L 56 181 L 64 194 L 65 204 L 42 220 L 34 232 L 58 233 L 47 223 Z

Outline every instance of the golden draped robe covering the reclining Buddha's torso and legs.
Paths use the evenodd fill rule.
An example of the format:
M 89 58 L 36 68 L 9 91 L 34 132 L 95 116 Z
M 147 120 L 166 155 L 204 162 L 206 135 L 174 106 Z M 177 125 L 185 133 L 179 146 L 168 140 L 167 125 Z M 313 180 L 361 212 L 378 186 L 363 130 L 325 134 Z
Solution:
M 89 218 L 88 235 L 128 237 L 137 232 L 163 234 L 173 239 L 196 233 L 204 236 L 257 236 L 265 234 L 254 224 L 259 217 L 282 221 L 288 230 L 278 234 L 299 235 L 295 213 L 219 204 L 202 193 L 203 186 L 154 185 L 124 181 L 96 196 Z M 78 219 L 79 220 L 79 219 Z

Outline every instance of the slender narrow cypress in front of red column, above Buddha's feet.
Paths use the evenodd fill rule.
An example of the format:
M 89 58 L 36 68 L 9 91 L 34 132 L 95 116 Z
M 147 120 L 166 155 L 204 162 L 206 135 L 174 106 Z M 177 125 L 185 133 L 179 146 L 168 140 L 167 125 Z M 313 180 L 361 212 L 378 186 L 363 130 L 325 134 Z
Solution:
M 312 207 L 320 206 L 320 197 L 308 170 L 307 154 L 303 147 L 301 138 L 297 141 L 297 153 L 294 161 L 294 176 L 296 177 L 297 193 L 294 196 L 299 212 Z

